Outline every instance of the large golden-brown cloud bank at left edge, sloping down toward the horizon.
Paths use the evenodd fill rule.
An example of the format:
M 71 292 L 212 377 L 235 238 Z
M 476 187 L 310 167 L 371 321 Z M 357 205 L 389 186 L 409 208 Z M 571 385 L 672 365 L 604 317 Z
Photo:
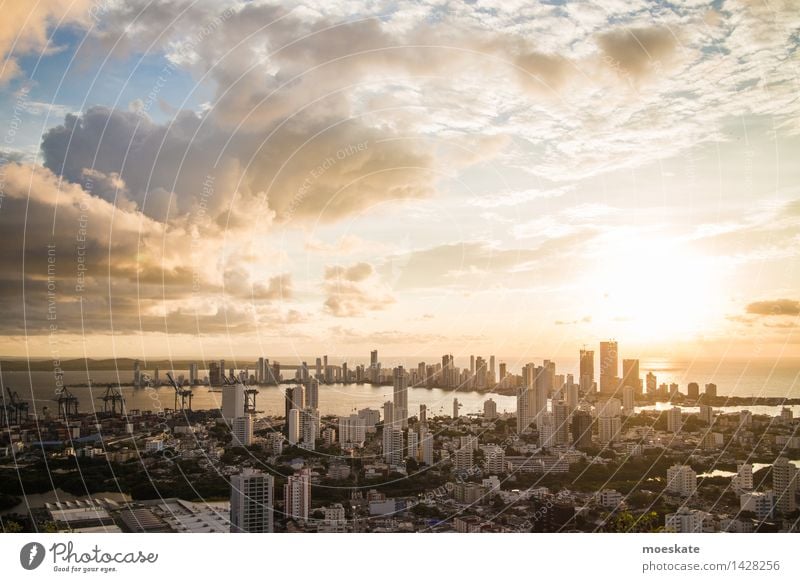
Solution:
M 213 231 L 101 198 L 117 178 L 93 175 L 89 192 L 45 168 L 2 170 L 0 333 L 239 334 L 303 319 L 289 274 L 253 268 Z

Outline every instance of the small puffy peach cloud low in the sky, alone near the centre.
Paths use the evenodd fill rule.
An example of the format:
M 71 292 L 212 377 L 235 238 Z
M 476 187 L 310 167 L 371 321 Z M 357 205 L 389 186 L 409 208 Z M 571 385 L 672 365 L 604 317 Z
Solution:
M 323 288 L 327 296 L 325 311 L 335 317 L 358 317 L 395 302 L 388 286 L 369 263 L 327 267 Z

